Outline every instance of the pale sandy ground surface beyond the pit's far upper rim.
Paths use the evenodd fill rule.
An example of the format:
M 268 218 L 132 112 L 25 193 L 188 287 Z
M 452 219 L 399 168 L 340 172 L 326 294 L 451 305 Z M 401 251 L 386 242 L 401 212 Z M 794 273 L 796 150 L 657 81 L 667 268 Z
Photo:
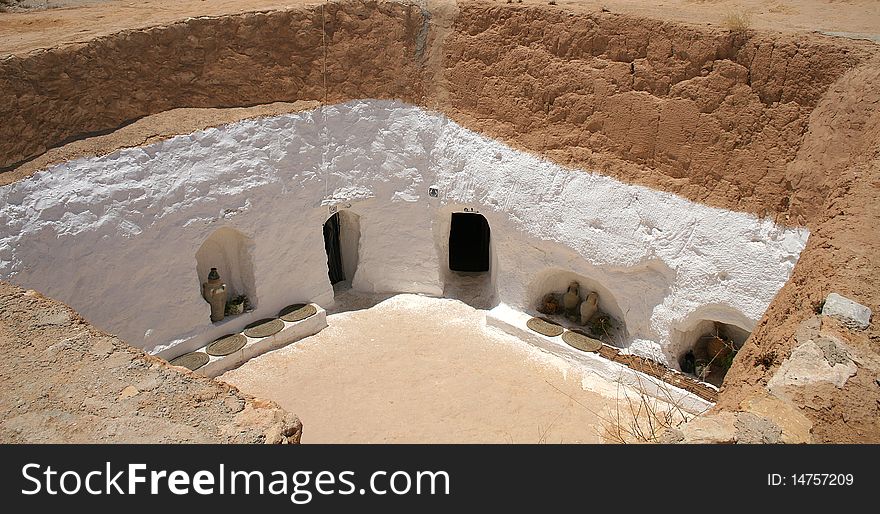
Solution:
M 517 3 L 515 0 L 514 3 Z M 469 3 L 505 3 L 481 0 Z M 7 0 L 7 3 L 9 1 Z M 0 14 L 0 54 L 24 53 L 86 41 L 120 30 L 167 24 L 189 16 L 281 9 L 324 3 L 315 0 L 57 0 L 11 2 L 32 9 Z M 438 3 L 438 2 L 428 2 Z M 523 5 L 547 5 L 523 0 Z M 0 6 L 3 2 L 0 2 Z M 558 0 L 558 7 L 648 16 L 685 23 L 722 25 L 728 13 L 748 13 L 762 30 L 820 31 L 880 37 L 875 0 Z M 9 8 L 9 6 L 7 6 Z M 49 7 L 48 10 L 45 10 Z

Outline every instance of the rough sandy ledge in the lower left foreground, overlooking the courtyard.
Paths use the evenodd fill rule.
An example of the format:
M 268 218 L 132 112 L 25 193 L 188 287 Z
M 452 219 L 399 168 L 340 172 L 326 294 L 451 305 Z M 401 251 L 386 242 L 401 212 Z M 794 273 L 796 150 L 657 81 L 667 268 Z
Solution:
M 302 424 L 276 404 L 170 366 L 2 282 L 0 352 L 0 443 L 299 440 Z

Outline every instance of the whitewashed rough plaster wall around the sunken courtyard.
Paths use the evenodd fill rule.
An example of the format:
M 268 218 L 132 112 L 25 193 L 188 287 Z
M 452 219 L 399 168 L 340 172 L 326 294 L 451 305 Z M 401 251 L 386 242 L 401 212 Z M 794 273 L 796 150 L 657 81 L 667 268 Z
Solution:
M 613 299 L 603 307 L 622 316 L 630 350 L 669 361 L 705 306 L 751 330 L 808 236 L 565 168 L 418 107 L 360 100 L 78 159 L 0 188 L 0 278 L 132 344 L 181 353 L 290 303 L 332 303 L 321 230 L 331 207 L 358 216 L 355 289 L 442 294 L 443 220 L 475 209 L 492 231 L 500 302 L 531 311 L 539 289 L 586 277 Z M 195 254 L 221 227 L 251 242 L 259 303 L 212 325 Z

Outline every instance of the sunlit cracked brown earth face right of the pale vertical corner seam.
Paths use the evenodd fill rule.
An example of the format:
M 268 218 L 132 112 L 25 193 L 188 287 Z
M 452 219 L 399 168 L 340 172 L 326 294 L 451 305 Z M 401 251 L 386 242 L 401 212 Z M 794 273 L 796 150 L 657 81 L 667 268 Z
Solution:
M 455 28 L 444 61 L 453 117 L 565 163 L 762 215 L 791 212 L 786 169 L 810 114 L 865 57 L 829 39 L 537 8 L 466 7 Z

